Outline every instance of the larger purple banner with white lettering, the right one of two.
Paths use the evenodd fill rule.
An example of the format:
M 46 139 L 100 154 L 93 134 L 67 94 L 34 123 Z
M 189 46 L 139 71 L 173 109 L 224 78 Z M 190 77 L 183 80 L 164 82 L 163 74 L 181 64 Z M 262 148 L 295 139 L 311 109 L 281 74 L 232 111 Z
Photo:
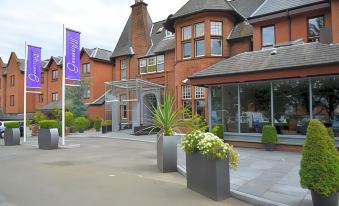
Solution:
M 80 80 L 80 33 L 66 29 L 65 78 Z

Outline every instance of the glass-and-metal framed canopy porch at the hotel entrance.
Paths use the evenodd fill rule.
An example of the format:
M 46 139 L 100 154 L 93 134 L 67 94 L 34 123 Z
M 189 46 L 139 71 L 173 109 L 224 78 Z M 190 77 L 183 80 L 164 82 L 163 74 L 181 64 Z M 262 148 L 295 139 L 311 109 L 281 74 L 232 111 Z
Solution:
M 105 113 L 113 131 L 149 126 L 152 109 L 160 103 L 165 86 L 141 79 L 105 82 Z

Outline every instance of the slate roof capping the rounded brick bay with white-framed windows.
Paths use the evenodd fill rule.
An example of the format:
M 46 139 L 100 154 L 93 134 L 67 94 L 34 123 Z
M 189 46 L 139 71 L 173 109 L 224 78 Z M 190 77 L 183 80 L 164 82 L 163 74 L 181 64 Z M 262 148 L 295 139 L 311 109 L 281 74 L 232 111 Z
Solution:
M 189 0 L 171 18 L 177 19 L 202 11 L 234 11 L 227 0 Z

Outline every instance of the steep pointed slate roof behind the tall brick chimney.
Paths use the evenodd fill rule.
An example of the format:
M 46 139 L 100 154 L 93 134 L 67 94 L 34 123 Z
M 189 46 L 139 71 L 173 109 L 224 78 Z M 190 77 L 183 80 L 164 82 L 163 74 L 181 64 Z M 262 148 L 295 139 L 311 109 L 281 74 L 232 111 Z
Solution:
M 152 27 L 153 27 L 153 23 L 152 23 L 152 19 L 149 15 L 149 13 L 147 13 L 147 23 L 148 23 L 148 34 L 151 33 Z M 124 27 L 124 30 L 122 31 L 119 41 L 112 53 L 112 58 L 115 57 L 119 57 L 119 56 L 128 56 L 128 55 L 133 55 L 134 51 L 133 51 L 133 47 L 132 47 L 132 16 L 130 15 L 127 23 Z

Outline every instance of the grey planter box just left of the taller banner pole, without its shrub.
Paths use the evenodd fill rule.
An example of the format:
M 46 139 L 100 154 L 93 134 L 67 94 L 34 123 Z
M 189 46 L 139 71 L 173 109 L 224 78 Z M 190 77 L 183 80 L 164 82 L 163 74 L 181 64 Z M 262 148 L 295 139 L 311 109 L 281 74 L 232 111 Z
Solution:
M 38 135 L 39 149 L 58 149 L 59 133 L 57 128 L 39 129 Z

